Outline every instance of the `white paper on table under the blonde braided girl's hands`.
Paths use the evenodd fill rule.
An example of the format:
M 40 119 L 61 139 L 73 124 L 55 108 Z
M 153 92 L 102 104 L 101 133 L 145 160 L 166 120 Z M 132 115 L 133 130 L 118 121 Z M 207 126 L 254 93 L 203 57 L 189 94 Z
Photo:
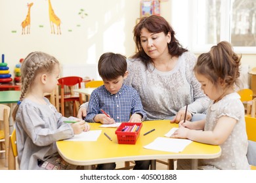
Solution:
M 65 139 L 64 141 L 97 141 L 102 130 L 91 130 L 85 131 L 70 139 Z

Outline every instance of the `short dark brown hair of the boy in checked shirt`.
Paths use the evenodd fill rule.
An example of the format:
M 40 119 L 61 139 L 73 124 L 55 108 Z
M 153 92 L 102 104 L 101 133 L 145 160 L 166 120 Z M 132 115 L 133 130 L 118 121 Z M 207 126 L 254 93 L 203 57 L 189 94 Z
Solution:
M 98 60 L 98 74 L 103 80 L 114 80 L 127 71 L 126 57 L 107 52 Z

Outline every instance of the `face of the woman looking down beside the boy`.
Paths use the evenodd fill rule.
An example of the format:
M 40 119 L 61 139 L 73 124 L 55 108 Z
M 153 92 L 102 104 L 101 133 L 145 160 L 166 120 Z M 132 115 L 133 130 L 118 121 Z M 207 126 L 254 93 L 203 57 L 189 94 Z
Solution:
M 161 33 L 150 33 L 148 29 L 142 28 L 140 31 L 140 44 L 146 54 L 152 58 L 160 58 L 169 52 L 167 44 L 171 41 L 171 33 L 165 35 Z

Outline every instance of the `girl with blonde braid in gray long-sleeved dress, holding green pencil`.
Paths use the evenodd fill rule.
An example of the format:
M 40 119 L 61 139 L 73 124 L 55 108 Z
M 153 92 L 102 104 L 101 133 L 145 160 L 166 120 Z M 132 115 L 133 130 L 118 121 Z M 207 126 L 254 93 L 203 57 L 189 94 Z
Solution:
M 22 63 L 22 91 L 12 114 L 19 169 L 77 169 L 60 158 L 56 141 L 69 139 L 90 127 L 78 118 L 62 116 L 44 97 L 44 93 L 56 88 L 59 74 L 56 58 L 43 52 L 32 52 Z

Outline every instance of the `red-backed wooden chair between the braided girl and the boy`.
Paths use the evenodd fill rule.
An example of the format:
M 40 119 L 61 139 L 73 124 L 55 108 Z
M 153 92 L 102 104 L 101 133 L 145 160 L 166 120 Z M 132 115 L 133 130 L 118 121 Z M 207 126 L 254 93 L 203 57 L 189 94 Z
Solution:
M 78 85 L 78 88 L 81 88 L 81 82 L 83 81 L 83 78 L 79 76 L 68 76 L 58 79 L 58 84 L 60 85 L 60 108 L 61 108 L 61 114 L 64 116 L 64 108 L 65 102 L 73 102 L 73 116 L 77 116 L 77 111 L 79 105 L 83 102 L 82 101 L 82 95 L 81 93 L 78 95 L 73 92 L 73 87 L 75 85 Z M 67 88 L 70 89 L 69 91 L 65 91 Z M 79 104 L 77 104 L 79 102 Z

